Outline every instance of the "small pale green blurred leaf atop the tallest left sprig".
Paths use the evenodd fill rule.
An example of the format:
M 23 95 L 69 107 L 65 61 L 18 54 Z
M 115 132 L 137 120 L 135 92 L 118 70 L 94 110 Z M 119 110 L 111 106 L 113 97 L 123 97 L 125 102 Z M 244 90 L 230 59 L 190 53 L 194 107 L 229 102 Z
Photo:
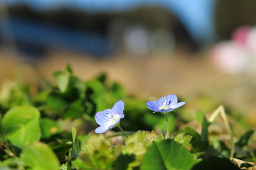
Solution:
M 68 88 L 70 73 L 67 71 L 55 71 L 53 76 L 60 92 L 65 92 Z

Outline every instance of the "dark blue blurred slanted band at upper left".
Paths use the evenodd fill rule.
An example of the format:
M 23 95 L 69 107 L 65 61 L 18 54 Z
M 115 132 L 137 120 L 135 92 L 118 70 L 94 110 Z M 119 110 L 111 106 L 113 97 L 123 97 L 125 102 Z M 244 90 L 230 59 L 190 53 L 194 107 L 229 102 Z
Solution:
M 92 33 L 53 26 L 39 21 L 14 18 L 9 19 L 12 37 L 6 37 L 1 27 L 0 38 L 13 38 L 19 47 L 19 42 L 36 47 L 69 48 L 78 52 L 85 52 L 94 56 L 105 56 L 110 53 L 111 47 L 107 37 L 93 35 Z M 33 49 L 29 49 L 33 52 Z M 41 52 L 38 52 L 41 53 Z

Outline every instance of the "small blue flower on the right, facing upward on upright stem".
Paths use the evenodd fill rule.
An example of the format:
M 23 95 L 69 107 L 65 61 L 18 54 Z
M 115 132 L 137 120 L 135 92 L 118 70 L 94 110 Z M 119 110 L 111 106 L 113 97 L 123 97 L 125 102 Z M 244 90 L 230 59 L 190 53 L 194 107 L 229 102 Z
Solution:
M 159 100 L 156 101 L 148 101 L 146 105 L 149 109 L 155 112 L 162 112 L 167 113 L 173 111 L 175 108 L 181 107 L 186 104 L 186 102 L 178 102 L 176 95 L 167 95 L 161 97 Z

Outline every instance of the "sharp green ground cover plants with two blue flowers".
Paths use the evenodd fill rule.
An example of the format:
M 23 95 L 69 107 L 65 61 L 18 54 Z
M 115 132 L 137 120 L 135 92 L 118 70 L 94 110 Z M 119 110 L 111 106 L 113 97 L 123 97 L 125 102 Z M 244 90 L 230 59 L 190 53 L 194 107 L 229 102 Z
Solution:
M 256 168 L 254 131 L 234 137 L 224 106 L 197 111 L 198 130 L 170 92 L 145 101 L 106 74 L 82 81 L 67 66 L 53 76 L 1 84 L 0 169 Z M 210 131 L 218 118 L 225 138 Z

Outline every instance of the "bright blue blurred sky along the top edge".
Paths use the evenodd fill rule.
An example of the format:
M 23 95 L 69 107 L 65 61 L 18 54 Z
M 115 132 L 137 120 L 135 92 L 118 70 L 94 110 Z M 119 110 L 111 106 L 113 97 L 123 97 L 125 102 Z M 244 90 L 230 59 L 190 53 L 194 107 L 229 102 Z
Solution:
M 125 10 L 140 5 L 161 5 L 177 15 L 197 43 L 204 45 L 214 39 L 215 0 L 7 0 L 6 3 L 25 3 L 39 10 L 66 6 L 91 12 Z

